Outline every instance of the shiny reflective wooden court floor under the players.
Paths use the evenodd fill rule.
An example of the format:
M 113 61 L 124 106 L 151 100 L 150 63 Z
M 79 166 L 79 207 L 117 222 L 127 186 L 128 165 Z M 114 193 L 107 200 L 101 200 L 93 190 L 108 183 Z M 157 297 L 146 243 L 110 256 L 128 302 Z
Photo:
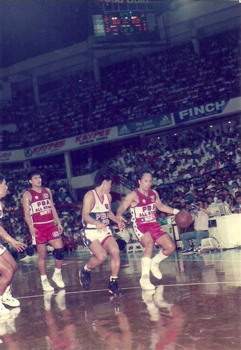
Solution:
M 20 261 L 12 284 L 20 307 L 0 319 L 0 350 L 240 350 L 241 249 L 161 263 L 154 291 L 139 285 L 141 252 L 122 253 L 122 297 L 108 293 L 109 261 L 92 273 L 91 291 L 79 283 L 88 253 L 63 265 L 64 290 L 43 293 L 35 258 Z

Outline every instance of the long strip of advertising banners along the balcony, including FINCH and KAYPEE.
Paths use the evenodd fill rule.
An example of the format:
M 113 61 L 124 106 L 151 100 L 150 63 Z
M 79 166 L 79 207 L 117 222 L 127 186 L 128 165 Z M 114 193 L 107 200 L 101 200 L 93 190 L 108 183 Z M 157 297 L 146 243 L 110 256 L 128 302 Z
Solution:
M 106 141 L 117 140 L 120 137 L 135 135 L 141 132 L 147 132 L 155 129 L 161 129 L 165 126 L 184 123 L 187 121 L 201 119 L 207 116 L 219 117 L 228 114 L 237 113 L 241 111 L 241 97 L 231 99 L 229 101 L 216 101 L 212 103 L 203 104 L 198 107 L 190 107 L 175 113 L 169 113 L 162 116 L 148 118 L 130 122 L 113 128 L 107 128 L 88 132 L 85 134 L 73 136 L 63 140 L 52 141 L 42 145 L 27 147 L 25 149 L 17 150 L 3 150 L 0 151 L 0 163 L 13 163 L 31 160 L 37 157 L 48 156 L 74 149 L 85 148 L 89 145 L 96 145 Z

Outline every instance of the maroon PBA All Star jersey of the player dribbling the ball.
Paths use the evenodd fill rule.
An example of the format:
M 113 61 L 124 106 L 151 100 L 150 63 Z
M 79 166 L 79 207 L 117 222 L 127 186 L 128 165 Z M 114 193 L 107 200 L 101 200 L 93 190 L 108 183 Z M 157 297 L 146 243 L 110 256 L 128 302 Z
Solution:
M 144 224 L 145 222 L 156 222 L 156 194 L 152 189 L 148 190 L 145 196 L 138 189 L 134 189 L 137 194 L 139 203 L 135 207 L 131 207 L 131 221 L 136 224 Z

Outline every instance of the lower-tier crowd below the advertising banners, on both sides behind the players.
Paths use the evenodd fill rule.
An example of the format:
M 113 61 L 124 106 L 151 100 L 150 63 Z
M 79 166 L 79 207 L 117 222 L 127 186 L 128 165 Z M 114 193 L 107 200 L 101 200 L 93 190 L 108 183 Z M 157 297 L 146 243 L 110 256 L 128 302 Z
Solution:
M 171 135 L 171 134 L 170 134 Z M 178 209 L 189 209 L 202 199 L 208 205 L 223 202 L 226 213 L 236 212 L 240 188 L 240 142 L 233 130 L 208 133 L 205 127 L 182 131 L 178 139 L 170 136 L 167 145 L 157 139 L 150 140 L 145 149 L 125 146 L 109 159 L 101 158 L 99 167 L 115 170 L 115 173 L 135 183 L 137 172 L 143 167 L 153 173 L 153 188 L 159 192 L 164 204 Z M 101 153 L 101 152 L 100 152 Z M 98 162 L 95 158 L 93 162 Z M 65 169 L 59 165 L 43 165 L 43 186 L 51 189 L 55 207 L 64 227 L 63 240 L 67 252 L 82 245 L 80 237 L 82 203 L 75 203 L 65 180 Z M 9 187 L 4 200 L 3 225 L 16 239 L 26 242 L 31 250 L 31 236 L 25 224 L 22 210 L 22 195 L 29 187 L 28 169 L 5 166 L 4 175 Z M 63 178 L 61 178 L 63 177 Z M 167 217 L 159 213 L 159 222 L 167 223 Z

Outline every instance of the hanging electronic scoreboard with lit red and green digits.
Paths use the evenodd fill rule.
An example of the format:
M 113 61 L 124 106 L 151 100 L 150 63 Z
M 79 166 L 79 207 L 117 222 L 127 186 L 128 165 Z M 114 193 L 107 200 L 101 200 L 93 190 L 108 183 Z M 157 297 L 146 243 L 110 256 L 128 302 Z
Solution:
M 159 40 L 157 18 L 149 12 L 108 12 L 93 15 L 96 43 Z

